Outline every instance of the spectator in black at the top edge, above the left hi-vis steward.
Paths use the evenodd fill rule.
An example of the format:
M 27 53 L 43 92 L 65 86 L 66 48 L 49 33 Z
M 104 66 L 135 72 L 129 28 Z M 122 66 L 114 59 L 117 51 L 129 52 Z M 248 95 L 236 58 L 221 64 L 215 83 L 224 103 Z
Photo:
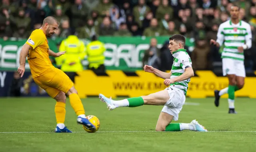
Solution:
M 72 28 L 84 26 L 88 13 L 88 8 L 86 8 L 82 0 L 75 0 L 75 4 L 71 7 Z

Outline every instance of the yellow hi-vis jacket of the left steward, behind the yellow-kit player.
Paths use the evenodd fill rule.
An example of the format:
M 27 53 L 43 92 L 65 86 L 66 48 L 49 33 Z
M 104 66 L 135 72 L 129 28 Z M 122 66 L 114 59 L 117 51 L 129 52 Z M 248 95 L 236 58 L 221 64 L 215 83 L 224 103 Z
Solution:
M 84 42 L 79 40 L 77 36 L 68 36 L 60 44 L 59 52 L 62 51 L 66 51 L 66 53 L 56 58 L 56 64 L 61 66 L 62 71 L 78 72 L 84 70 L 82 65 L 82 60 L 86 55 Z M 70 63 L 74 64 L 69 65 Z

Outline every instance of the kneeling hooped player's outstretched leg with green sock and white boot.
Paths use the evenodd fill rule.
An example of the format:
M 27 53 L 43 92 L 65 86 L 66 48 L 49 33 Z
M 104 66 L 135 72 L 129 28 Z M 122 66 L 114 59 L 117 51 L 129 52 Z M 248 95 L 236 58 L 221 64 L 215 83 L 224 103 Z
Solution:
M 111 98 L 105 97 L 103 94 L 99 94 L 99 98 L 102 102 L 106 103 L 108 110 L 113 110 L 118 107 L 137 107 L 144 104 L 164 105 L 170 99 L 170 96 L 167 90 L 162 90 L 148 96 L 140 96 L 124 100 L 112 100 Z

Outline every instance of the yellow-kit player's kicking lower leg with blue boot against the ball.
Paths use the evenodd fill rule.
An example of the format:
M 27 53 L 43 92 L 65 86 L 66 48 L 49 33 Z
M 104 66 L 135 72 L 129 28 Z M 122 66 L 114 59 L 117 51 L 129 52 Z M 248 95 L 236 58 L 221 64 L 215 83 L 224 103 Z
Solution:
M 85 116 L 84 106 L 82 104 L 81 99 L 79 98 L 76 89 L 74 86 L 68 90 L 67 95 L 70 99 L 70 104 L 74 111 L 76 112 L 77 117 L 77 123 L 84 125 L 89 130 L 95 130 L 96 127 L 90 123 L 90 121 Z

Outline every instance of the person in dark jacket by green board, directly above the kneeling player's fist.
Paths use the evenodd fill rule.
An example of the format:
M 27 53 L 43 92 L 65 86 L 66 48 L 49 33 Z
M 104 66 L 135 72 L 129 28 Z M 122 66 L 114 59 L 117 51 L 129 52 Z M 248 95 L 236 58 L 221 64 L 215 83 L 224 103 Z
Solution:
M 150 47 L 148 50 L 144 52 L 144 57 L 142 59 L 142 64 L 153 66 L 154 68 L 160 68 L 160 50 L 157 48 L 157 40 L 156 38 L 151 38 Z

